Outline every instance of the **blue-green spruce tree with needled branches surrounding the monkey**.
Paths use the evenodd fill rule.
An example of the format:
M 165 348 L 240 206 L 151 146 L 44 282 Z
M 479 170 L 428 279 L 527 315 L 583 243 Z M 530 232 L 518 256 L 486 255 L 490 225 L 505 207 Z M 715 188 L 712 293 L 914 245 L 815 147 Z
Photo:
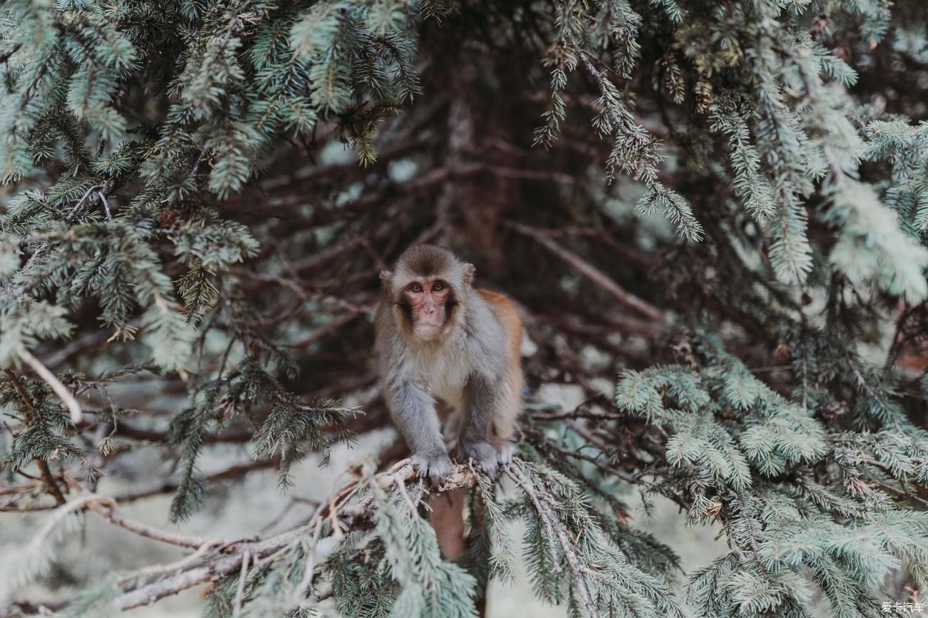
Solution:
M 926 101 L 920 0 L 6 0 L 0 517 L 51 512 L 0 557 L 0 616 L 212 582 L 213 618 L 465 618 L 521 566 L 578 617 L 904 604 L 928 587 Z M 448 480 L 460 559 L 397 448 L 283 532 L 123 514 L 170 493 L 183 524 L 268 468 L 290 491 L 387 426 L 377 273 L 423 241 L 533 343 L 519 457 Z M 550 405 L 563 383 L 584 403 Z M 220 444 L 251 461 L 207 473 Z M 684 573 L 632 509 L 658 496 L 724 551 Z M 90 517 L 187 553 L 22 598 Z

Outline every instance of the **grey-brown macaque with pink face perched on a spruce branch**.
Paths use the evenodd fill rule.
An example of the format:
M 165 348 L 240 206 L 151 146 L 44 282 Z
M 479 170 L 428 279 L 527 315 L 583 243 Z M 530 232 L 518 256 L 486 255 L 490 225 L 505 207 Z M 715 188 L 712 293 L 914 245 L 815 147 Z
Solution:
M 522 319 L 502 294 L 475 289 L 473 275 L 472 264 L 436 245 L 410 247 L 393 272 L 380 272 L 380 380 L 413 465 L 433 484 L 452 470 L 436 398 L 460 415 L 462 461 L 472 458 L 495 479 L 515 453 Z

